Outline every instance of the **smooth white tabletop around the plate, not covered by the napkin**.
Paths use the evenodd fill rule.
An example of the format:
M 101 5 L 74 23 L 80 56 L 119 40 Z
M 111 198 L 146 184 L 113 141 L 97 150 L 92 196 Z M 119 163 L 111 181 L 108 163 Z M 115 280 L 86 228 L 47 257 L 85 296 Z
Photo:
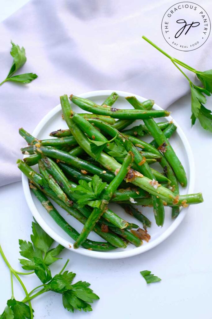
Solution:
M 9 1 L 0 1 L 1 10 L 6 3 Z M 67 269 L 77 273 L 76 280 L 89 281 L 100 300 L 95 302 L 92 313 L 70 314 L 63 310 L 61 296 L 46 293 L 46 296 L 32 302 L 35 319 L 179 319 L 188 316 L 211 319 L 211 135 L 203 131 L 199 124 L 191 129 L 189 97 L 176 102 L 169 110 L 173 111 L 175 120 L 183 127 L 192 147 L 196 166 L 194 190 L 202 191 L 204 203 L 192 206 L 184 221 L 166 241 L 142 255 L 119 260 L 97 260 L 63 252 L 64 259 L 71 260 Z M 0 203 L 0 242 L 12 266 L 20 270 L 18 239 L 30 239 L 32 222 L 21 182 L 1 187 Z M 58 266 L 55 264 L 55 271 L 60 269 L 61 264 L 61 261 Z M 162 281 L 147 286 L 139 274 L 139 271 L 146 269 Z M 2 261 L 0 274 L 1 312 L 11 296 L 9 271 Z M 24 280 L 29 290 L 37 286 L 35 276 L 26 277 Z M 15 296 L 19 300 L 23 297 L 16 283 Z

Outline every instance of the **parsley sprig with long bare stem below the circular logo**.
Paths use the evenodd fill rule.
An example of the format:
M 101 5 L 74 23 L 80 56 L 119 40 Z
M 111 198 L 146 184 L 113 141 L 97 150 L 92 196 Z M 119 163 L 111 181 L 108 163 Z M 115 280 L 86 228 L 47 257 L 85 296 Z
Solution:
M 142 38 L 148 43 L 150 43 L 154 48 L 156 48 L 161 53 L 163 53 L 166 57 L 168 57 L 172 61 L 172 63 L 176 66 L 176 68 L 187 78 L 190 85 L 190 89 L 191 89 L 192 126 L 194 125 L 196 119 L 198 118 L 203 129 L 212 132 L 211 110 L 208 110 L 203 105 L 207 101 L 206 95 L 210 96 L 212 93 L 212 70 L 207 70 L 203 72 L 195 70 L 194 68 L 187 65 L 186 63 L 168 55 L 165 51 L 163 51 L 161 48 L 156 46 L 152 41 L 147 39 L 145 36 L 143 36 Z M 203 85 L 203 87 L 194 85 L 194 83 L 190 80 L 190 78 L 188 78 L 188 76 L 183 72 L 183 70 L 179 67 L 179 65 L 195 73 L 197 78 L 201 81 L 201 84 Z

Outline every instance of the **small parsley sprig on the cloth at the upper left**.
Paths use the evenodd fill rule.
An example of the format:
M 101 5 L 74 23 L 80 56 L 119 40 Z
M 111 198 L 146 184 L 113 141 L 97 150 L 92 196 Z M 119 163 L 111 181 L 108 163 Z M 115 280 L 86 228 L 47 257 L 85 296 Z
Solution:
M 13 76 L 13 74 L 16 73 L 16 71 L 18 71 L 25 64 L 26 55 L 25 55 L 25 48 L 23 47 L 20 48 L 18 44 L 13 43 L 12 41 L 11 41 L 11 44 L 12 44 L 12 48 L 11 48 L 10 54 L 13 57 L 12 66 L 7 77 L 5 78 L 4 81 L 0 83 L 0 85 L 2 85 L 3 83 L 7 81 L 22 83 L 22 84 L 30 83 L 32 80 L 38 77 L 37 74 L 24 73 L 24 74 L 18 74 Z

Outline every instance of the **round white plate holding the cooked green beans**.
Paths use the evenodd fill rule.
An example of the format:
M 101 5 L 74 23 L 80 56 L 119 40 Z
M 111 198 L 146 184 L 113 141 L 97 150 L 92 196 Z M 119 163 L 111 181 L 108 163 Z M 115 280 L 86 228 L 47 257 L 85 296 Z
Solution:
M 128 92 L 116 91 L 119 95 L 118 100 L 116 101 L 116 105 L 118 104 L 118 108 L 132 108 L 130 103 L 128 103 L 124 98 L 126 96 L 135 95 Z M 72 92 L 71 92 L 72 93 Z M 79 95 L 83 98 L 88 98 L 90 100 L 95 101 L 98 104 L 101 104 L 110 94 L 112 91 L 110 90 L 103 90 L 103 91 L 94 91 L 88 92 Z M 141 96 L 135 95 L 139 101 L 144 101 Z M 80 108 L 76 105 L 72 104 L 73 110 L 79 113 L 83 113 Z M 158 105 L 154 105 L 153 107 L 156 110 L 160 110 L 161 108 Z M 65 129 L 67 128 L 66 122 L 61 118 L 61 106 L 58 105 L 52 109 L 37 125 L 36 129 L 32 133 L 33 136 L 43 139 L 48 138 L 49 133 L 51 131 L 57 129 Z M 187 179 L 188 185 L 186 188 L 180 188 L 180 194 L 192 193 L 194 190 L 194 158 L 191 151 L 191 147 L 188 143 L 188 140 L 179 127 L 179 125 L 173 120 L 171 116 L 166 118 L 159 118 L 156 119 L 157 121 L 173 121 L 177 126 L 177 131 L 174 133 L 173 137 L 170 138 L 171 144 L 176 151 L 177 155 L 179 156 L 186 172 L 187 172 Z M 137 121 L 138 125 L 139 121 Z M 134 124 L 135 125 L 135 124 Z M 150 138 L 150 137 L 149 137 Z M 27 201 L 27 204 L 32 212 L 32 215 L 37 220 L 39 225 L 49 234 L 55 241 L 70 249 L 76 253 L 95 257 L 95 258 L 105 258 L 105 259 L 115 259 L 115 258 L 124 258 L 129 256 L 134 256 L 141 254 L 149 249 L 152 249 L 162 241 L 164 241 L 173 231 L 180 225 L 181 221 L 184 219 L 185 214 L 188 208 L 182 209 L 179 216 L 175 219 L 171 219 L 171 208 L 166 207 L 166 217 L 164 226 L 158 227 L 155 224 L 154 216 L 152 208 L 149 207 L 139 207 L 144 215 L 146 215 L 151 221 L 152 226 L 148 229 L 148 233 L 151 235 L 151 240 L 140 247 L 135 247 L 132 244 L 129 244 L 126 249 L 116 249 L 111 252 L 97 252 L 92 250 L 87 250 L 84 248 L 73 248 L 73 240 L 53 221 L 53 219 L 48 215 L 46 210 L 42 207 L 40 202 L 34 197 L 32 192 L 30 191 L 28 179 L 27 177 L 22 174 L 22 183 L 24 188 L 24 194 Z M 82 229 L 82 224 L 74 219 L 72 216 L 68 215 L 66 211 L 62 210 L 58 205 L 55 204 L 55 207 L 60 211 L 61 215 L 67 220 L 69 224 L 71 224 L 78 232 Z M 116 213 L 118 213 L 121 217 L 126 219 L 129 222 L 134 222 L 142 227 L 142 224 L 137 220 L 134 219 L 132 216 L 126 214 L 117 204 L 110 205 L 110 208 L 113 209 Z M 103 241 L 97 234 L 91 233 L 89 238 L 92 240 Z

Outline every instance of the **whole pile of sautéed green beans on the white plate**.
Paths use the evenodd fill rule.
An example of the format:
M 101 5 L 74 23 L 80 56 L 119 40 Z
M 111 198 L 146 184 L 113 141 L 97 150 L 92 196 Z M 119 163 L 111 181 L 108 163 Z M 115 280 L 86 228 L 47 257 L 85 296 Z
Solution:
M 172 207 L 172 218 L 176 218 L 180 206 L 203 201 L 201 193 L 179 194 L 178 182 L 185 187 L 187 177 L 168 140 L 177 128 L 173 122 L 154 121 L 169 112 L 152 110 L 153 100 L 141 103 L 135 97 L 126 98 L 134 109 L 119 109 L 113 106 L 117 99 L 117 93 L 113 92 L 102 105 L 97 105 L 71 95 L 72 103 L 90 112 L 77 114 L 67 95 L 63 95 L 60 103 L 66 129 L 55 130 L 49 134 L 50 138 L 42 140 L 19 129 L 28 143 L 21 151 L 30 156 L 19 159 L 18 168 L 28 177 L 32 192 L 54 222 L 74 240 L 75 249 L 81 246 L 106 252 L 124 249 L 129 243 L 142 245 L 142 239 L 130 231 L 141 225 L 118 216 L 108 207 L 110 203 L 119 204 L 147 232 L 152 222 L 134 205 L 153 207 L 156 224 L 163 226 L 165 206 Z M 144 123 L 128 128 L 135 120 Z M 144 135 L 152 135 L 152 142 L 143 141 Z M 156 162 L 163 168 L 162 173 L 150 167 Z M 32 168 L 36 164 L 39 173 Z M 79 204 L 76 191 L 84 187 L 94 194 L 91 192 L 94 178 L 103 188 L 98 198 L 91 197 L 98 205 L 89 202 L 91 195 L 88 201 Z M 83 224 L 81 233 L 69 224 L 68 217 L 66 220 L 60 215 L 50 199 Z M 104 241 L 89 240 L 91 231 Z

